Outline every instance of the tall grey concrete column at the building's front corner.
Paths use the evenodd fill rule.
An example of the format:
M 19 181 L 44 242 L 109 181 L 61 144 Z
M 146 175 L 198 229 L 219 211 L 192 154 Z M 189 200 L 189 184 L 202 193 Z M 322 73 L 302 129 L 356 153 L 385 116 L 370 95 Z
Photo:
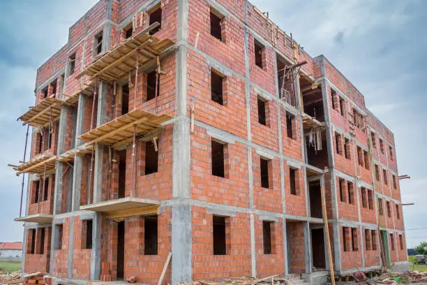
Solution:
M 190 118 L 187 117 L 188 0 L 178 0 L 177 117 L 173 126 L 173 198 L 190 198 Z M 172 285 L 192 279 L 191 206 L 172 205 Z

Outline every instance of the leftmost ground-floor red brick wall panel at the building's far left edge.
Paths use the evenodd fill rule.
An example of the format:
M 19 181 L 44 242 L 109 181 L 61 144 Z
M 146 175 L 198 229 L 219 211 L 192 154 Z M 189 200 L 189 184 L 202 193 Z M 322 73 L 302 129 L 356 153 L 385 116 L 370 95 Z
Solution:
M 40 231 L 38 228 L 36 231 Z M 26 230 L 26 245 L 25 248 L 29 249 L 31 247 L 31 234 L 30 230 Z M 50 239 L 51 239 L 51 227 L 45 228 L 45 243 L 44 254 L 25 254 L 25 272 L 49 272 L 49 263 L 50 263 Z M 40 251 L 39 251 L 40 252 Z

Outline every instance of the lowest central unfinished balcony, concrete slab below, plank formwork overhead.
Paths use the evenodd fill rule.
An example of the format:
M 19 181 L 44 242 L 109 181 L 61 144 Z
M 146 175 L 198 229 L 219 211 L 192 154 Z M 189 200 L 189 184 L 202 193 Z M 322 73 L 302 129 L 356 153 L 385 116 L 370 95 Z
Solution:
M 140 149 L 140 142 L 153 145 L 157 151 L 156 138 L 163 131 L 162 124 L 170 119 L 172 117 L 167 115 L 153 115 L 142 110 L 133 110 L 79 137 L 84 141 L 84 145 L 79 149 L 89 147 L 96 149 L 96 145 L 99 145 L 105 150 L 106 159 L 103 161 L 103 168 L 108 169 L 101 187 L 103 189 L 101 201 L 93 203 L 92 201 L 96 200 L 92 198 L 95 196 L 94 177 L 91 175 L 94 163 L 93 159 L 87 161 L 90 181 L 87 193 L 88 205 L 81 205 L 80 210 L 103 212 L 110 219 L 158 212 L 160 204 L 158 200 L 136 195 L 136 159 L 139 155 L 137 152 Z M 93 157 L 94 152 L 91 152 L 90 156 Z M 61 159 L 67 158 L 63 156 Z

